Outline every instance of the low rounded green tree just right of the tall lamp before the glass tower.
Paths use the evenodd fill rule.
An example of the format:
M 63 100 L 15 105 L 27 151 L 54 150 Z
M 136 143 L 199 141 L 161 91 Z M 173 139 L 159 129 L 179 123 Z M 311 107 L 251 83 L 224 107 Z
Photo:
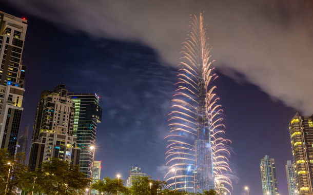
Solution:
M 92 189 L 98 190 L 99 194 L 130 194 L 129 188 L 124 186 L 125 180 L 122 179 L 111 179 L 109 177 L 104 178 L 103 180 L 97 180 L 94 184 L 91 185 Z

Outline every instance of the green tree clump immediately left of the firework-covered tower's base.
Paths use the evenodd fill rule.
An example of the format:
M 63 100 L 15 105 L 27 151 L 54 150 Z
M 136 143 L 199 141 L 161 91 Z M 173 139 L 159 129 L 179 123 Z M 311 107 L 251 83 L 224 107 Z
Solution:
M 166 185 L 165 181 L 150 180 L 149 177 L 133 176 L 131 177 L 132 186 L 130 192 L 132 195 L 157 195 Z M 151 185 L 150 185 L 151 184 Z

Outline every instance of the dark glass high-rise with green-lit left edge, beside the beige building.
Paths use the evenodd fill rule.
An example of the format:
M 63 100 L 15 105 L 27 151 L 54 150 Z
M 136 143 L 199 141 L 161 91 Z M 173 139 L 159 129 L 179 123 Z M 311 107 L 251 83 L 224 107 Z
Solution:
M 75 103 L 73 134 L 81 148 L 80 171 L 91 178 L 94 152 L 90 147 L 95 146 L 96 126 L 101 122 L 102 108 L 96 93 L 69 93 L 69 96 Z

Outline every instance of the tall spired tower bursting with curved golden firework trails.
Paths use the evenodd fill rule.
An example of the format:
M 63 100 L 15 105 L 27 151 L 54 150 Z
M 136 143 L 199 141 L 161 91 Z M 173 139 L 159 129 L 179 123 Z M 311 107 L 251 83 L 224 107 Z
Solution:
M 165 153 L 170 165 L 164 178 L 173 189 L 176 180 L 177 189 L 193 188 L 194 192 L 203 189 L 215 189 L 219 193 L 230 191 L 231 181 L 225 175 L 230 171 L 229 151 L 225 145 L 230 142 L 222 138 L 225 125 L 221 124 L 223 112 L 217 104 L 219 98 L 213 93 L 212 86 L 217 76 L 210 68 L 210 50 L 207 34 L 203 28 L 203 17 L 192 17 L 186 41 L 183 43 L 183 57 L 179 66 L 178 86 L 173 95 L 173 111 L 168 114 L 170 134 L 166 139 L 169 144 Z M 225 155 L 224 155 L 225 154 Z M 174 177 L 176 172 L 177 177 Z M 225 185 L 227 184 L 227 185 Z

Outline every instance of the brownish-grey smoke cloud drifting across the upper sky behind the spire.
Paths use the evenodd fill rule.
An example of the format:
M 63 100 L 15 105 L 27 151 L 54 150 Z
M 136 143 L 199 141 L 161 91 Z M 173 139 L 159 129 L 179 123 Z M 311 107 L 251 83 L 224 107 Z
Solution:
M 312 1 L 5 1 L 93 37 L 141 42 L 175 67 L 189 15 L 202 11 L 214 66 L 312 113 Z

